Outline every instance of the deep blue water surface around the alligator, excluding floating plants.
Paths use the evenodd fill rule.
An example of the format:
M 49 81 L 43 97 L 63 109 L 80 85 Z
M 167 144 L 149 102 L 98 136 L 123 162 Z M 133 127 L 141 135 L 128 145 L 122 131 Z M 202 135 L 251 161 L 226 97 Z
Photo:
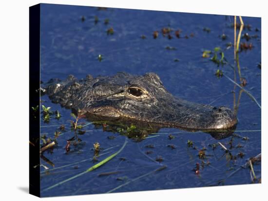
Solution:
M 84 21 L 81 20 L 82 16 Z M 98 17 L 96 24 L 95 16 Z M 106 18 L 109 18 L 107 25 L 104 24 Z M 253 45 L 251 50 L 239 52 L 241 75 L 248 83 L 245 89 L 261 104 L 261 69 L 257 67 L 257 63 L 261 62 L 261 32 L 255 30 L 261 30 L 261 18 L 243 17 L 243 20 L 246 25 L 251 25 L 251 30 L 246 27 L 242 34 L 257 36 L 251 37 L 249 41 L 241 39 L 241 43 Z M 118 71 L 132 74 L 155 72 L 174 96 L 233 108 L 240 89 L 234 88 L 234 84 L 225 76 L 218 79 L 214 75 L 217 65 L 210 58 L 202 58 L 203 50 L 221 47 L 228 62 L 234 64 L 233 47 L 226 49 L 228 42 L 233 43 L 232 23 L 232 16 L 115 8 L 98 10 L 96 7 L 42 4 L 41 80 L 64 80 L 69 74 L 81 79 L 87 74 L 94 77 L 109 76 Z M 111 27 L 114 34 L 107 35 L 106 31 Z M 161 29 L 164 27 L 174 30 L 171 33 L 172 39 L 162 35 Z M 205 27 L 211 31 L 203 31 Z M 176 38 L 174 34 L 177 29 L 182 30 L 181 38 Z M 156 39 L 153 38 L 154 31 L 159 32 Z M 226 40 L 220 37 L 223 33 L 227 35 Z M 141 35 L 146 38 L 142 39 Z M 185 38 L 185 35 L 189 38 Z M 167 50 L 167 46 L 176 50 Z M 101 62 L 97 59 L 99 54 L 103 57 Z M 174 59 L 179 61 L 175 62 Z M 226 64 L 220 69 L 234 79 L 234 70 L 230 65 Z M 239 82 L 237 70 L 236 81 Z M 261 109 L 244 92 L 239 101 L 239 122 L 234 132 L 241 137 L 235 135 L 217 140 L 202 132 L 189 133 L 166 128 L 160 129 L 158 135 L 149 135 L 154 137 L 135 142 L 124 135 L 106 132 L 89 124 L 84 128 L 86 133 L 79 136 L 82 141 L 76 147 L 72 146 L 67 154 L 66 141 L 74 136 L 70 130 L 71 110 L 52 103 L 47 96 L 41 97 L 41 100 L 43 105 L 50 106 L 52 111 L 58 110 L 62 115 L 59 120 L 51 118 L 48 124 L 41 121 L 41 134 L 54 138 L 58 127 L 66 125 L 66 132 L 57 138 L 58 144 L 53 152 L 43 153 L 54 167 L 41 159 L 41 164 L 49 168 L 45 171 L 41 167 L 41 196 L 96 194 L 113 189 L 113 192 L 125 192 L 252 183 L 250 169 L 239 167 L 250 157 L 261 153 Z M 88 123 L 86 119 L 79 122 Z M 171 133 L 174 136 L 172 140 L 168 138 Z M 108 136 L 115 136 L 115 139 L 108 139 Z M 242 137 L 249 139 L 244 140 Z M 233 148 L 228 144 L 231 139 Z M 96 162 L 92 161 L 95 142 L 99 142 L 102 148 L 98 157 L 101 161 L 118 151 L 125 140 L 128 143 L 124 150 L 105 165 L 50 190 L 44 190 L 95 165 Z M 187 146 L 188 140 L 193 142 L 196 149 Z M 209 146 L 218 142 L 230 149 L 233 156 L 243 152 L 244 157 L 237 156 L 236 159 L 229 160 L 228 154 L 220 146 L 214 150 Z M 150 144 L 154 148 L 146 147 Z M 169 144 L 176 148 L 172 150 L 167 147 Z M 238 144 L 243 145 L 243 148 L 237 148 Z M 202 159 L 198 157 L 198 151 L 202 148 L 207 149 L 207 158 L 203 161 L 210 162 L 210 165 L 200 167 L 200 173 L 195 174 L 192 169 L 196 163 L 200 166 L 202 164 Z M 146 151 L 152 153 L 147 154 Z M 163 158 L 161 163 L 155 161 L 159 156 Z M 154 172 L 163 166 L 166 168 Z M 237 169 L 239 170 L 230 176 Z M 260 164 L 254 165 L 254 170 L 257 179 L 261 178 Z M 116 173 L 98 176 L 104 172 Z M 222 180 L 224 182 L 219 183 Z

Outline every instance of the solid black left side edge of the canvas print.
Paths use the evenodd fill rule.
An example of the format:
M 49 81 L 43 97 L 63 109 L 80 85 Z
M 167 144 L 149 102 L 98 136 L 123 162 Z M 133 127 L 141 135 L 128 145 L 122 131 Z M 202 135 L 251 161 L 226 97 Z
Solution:
M 40 4 L 29 8 L 29 193 L 40 197 Z M 32 107 L 38 106 L 34 113 Z

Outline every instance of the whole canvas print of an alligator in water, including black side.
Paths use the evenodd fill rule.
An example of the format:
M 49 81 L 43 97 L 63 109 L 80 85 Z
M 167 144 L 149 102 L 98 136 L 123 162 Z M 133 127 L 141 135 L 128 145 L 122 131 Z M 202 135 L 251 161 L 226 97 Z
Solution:
M 260 17 L 38 4 L 30 65 L 32 194 L 261 183 Z

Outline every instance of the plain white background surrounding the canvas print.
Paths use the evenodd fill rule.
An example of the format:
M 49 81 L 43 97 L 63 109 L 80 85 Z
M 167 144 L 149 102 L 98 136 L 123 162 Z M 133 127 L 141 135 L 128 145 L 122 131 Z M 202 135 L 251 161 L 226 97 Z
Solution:
M 29 6 L 3 0 L 0 5 L 0 199 L 38 200 L 28 194 Z M 42 0 L 43 3 L 179 11 L 262 17 L 262 184 L 202 187 L 134 193 L 57 197 L 42 200 L 206 200 L 254 201 L 267 198 L 267 8 L 265 0 Z M 267 50 L 267 49 L 266 49 Z

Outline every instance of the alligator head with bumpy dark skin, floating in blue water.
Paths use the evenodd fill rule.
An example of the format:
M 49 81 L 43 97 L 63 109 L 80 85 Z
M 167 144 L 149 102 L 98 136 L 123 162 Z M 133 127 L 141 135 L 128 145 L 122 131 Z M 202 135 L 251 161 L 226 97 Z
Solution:
M 188 131 L 232 130 L 237 118 L 225 106 L 214 107 L 174 97 L 153 72 L 113 76 L 87 75 L 78 80 L 51 79 L 42 87 L 52 102 L 98 118 L 126 119 Z

